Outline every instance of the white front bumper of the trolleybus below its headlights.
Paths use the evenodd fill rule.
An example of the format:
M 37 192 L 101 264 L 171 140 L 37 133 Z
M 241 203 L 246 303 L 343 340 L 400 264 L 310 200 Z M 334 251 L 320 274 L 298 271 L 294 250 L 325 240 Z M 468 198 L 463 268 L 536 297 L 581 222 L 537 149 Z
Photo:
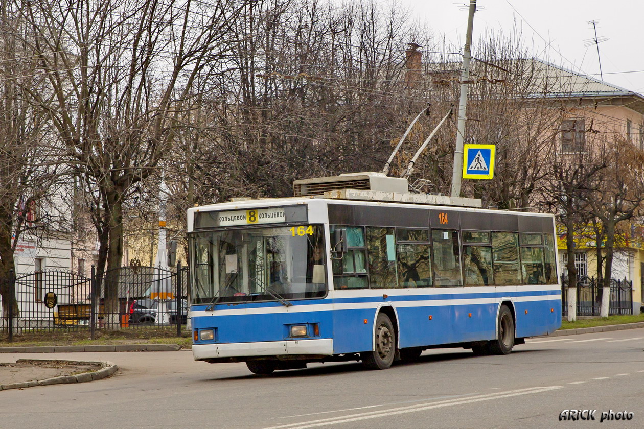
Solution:
M 236 358 L 243 356 L 284 355 L 330 356 L 333 339 L 265 341 L 258 343 L 193 344 L 194 360 Z

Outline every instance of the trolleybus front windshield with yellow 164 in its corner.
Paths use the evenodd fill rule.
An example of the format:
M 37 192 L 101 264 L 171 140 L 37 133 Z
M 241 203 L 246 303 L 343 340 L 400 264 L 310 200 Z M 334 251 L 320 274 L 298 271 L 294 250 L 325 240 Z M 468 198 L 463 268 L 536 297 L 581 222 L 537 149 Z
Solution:
M 190 240 L 194 304 L 327 293 L 320 225 L 196 232 Z

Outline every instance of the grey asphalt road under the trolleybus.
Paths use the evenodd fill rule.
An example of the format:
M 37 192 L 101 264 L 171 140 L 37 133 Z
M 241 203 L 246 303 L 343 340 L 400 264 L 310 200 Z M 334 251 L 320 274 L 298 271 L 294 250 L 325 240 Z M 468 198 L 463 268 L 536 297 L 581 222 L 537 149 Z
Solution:
M 179 352 L 6 354 L 109 360 L 115 376 L 0 392 L 0 428 L 635 428 L 644 424 L 644 329 L 535 338 L 508 356 L 426 351 L 414 363 L 359 363 L 255 376 L 245 364 Z M 564 409 L 597 410 L 559 421 Z M 632 412 L 627 421 L 601 413 Z

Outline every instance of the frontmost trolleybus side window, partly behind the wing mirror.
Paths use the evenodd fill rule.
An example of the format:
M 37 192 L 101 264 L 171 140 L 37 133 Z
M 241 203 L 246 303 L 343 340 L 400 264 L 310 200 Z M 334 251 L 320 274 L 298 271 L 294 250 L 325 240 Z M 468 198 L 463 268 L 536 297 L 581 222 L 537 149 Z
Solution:
M 346 230 L 348 251 L 342 259 L 332 263 L 336 289 L 367 289 L 365 228 L 363 226 L 330 225 L 331 235 L 336 229 Z

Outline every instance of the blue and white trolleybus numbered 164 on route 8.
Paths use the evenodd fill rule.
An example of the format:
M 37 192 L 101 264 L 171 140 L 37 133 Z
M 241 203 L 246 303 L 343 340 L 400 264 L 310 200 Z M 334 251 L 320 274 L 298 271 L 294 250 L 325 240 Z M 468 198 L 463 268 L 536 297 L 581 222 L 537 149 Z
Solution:
M 554 217 L 379 173 L 188 211 L 195 360 L 256 374 L 437 347 L 508 354 L 561 324 Z

